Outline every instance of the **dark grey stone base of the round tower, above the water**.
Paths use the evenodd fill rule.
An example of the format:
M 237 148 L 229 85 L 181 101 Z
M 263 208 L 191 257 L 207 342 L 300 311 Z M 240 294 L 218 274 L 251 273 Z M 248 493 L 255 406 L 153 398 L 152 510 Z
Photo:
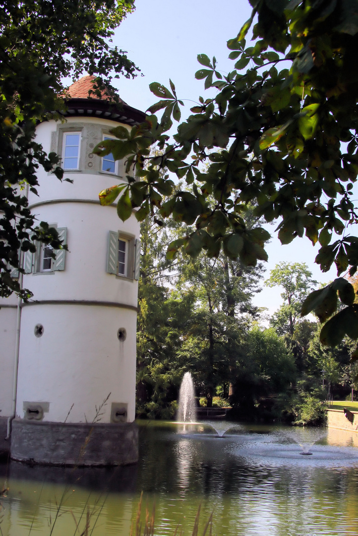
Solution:
M 12 421 L 13 460 L 46 465 L 129 465 L 138 461 L 134 422 L 60 423 Z

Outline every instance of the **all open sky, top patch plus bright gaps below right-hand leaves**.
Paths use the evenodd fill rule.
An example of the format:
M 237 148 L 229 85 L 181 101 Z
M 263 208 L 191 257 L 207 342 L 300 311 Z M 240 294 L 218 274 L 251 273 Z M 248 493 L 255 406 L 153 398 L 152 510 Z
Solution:
M 183 117 L 189 114 L 199 95 L 211 96 L 204 91 L 203 81 L 195 80 L 200 69 L 198 54 L 215 56 L 218 70 L 227 73 L 234 62 L 228 59 L 226 42 L 234 38 L 243 23 L 250 17 L 248 0 L 136 0 L 136 11 L 129 15 L 116 30 L 113 44 L 126 50 L 128 57 L 141 69 L 134 80 L 121 78 L 113 81 L 120 97 L 128 105 L 146 111 L 158 99 L 150 93 L 149 84 L 159 82 L 169 87 L 169 79 L 176 86 L 179 99 L 184 100 Z M 275 226 L 268 227 L 275 235 Z M 349 233 L 351 234 L 351 233 Z M 265 279 L 280 262 L 304 262 L 317 281 L 327 283 L 337 277 L 332 268 L 322 273 L 314 263 L 319 245 L 296 238 L 291 244 L 281 245 L 273 237 L 266 246 L 269 255 Z M 272 314 L 282 303 L 279 288 L 262 288 L 254 299 L 256 306 Z

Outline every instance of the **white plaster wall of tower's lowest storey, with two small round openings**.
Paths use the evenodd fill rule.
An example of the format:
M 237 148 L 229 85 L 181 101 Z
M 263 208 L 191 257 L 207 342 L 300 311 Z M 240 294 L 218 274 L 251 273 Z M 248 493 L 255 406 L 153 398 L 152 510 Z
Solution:
M 37 338 L 36 324 L 44 332 Z M 117 338 L 124 328 L 124 342 Z M 24 401 L 49 402 L 44 421 L 92 422 L 95 406 L 111 393 L 100 422 L 110 422 L 111 403 L 135 415 L 136 312 L 113 307 L 36 305 L 22 309 L 16 414 Z

